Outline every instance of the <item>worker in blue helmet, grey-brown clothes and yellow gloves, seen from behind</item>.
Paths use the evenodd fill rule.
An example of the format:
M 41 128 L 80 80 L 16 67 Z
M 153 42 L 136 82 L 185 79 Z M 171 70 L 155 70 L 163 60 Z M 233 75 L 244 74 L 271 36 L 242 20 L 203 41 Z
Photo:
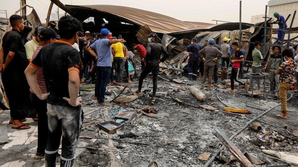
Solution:
M 223 53 L 218 50 L 216 47 L 214 47 L 215 40 L 209 39 L 209 45 L 204 47 L 202 50 L 199 51 L 200 58 L 205 61 L 204 63 L 204 76 L 201 83 L 201 89 L 204 89 L 204 83 L 206 81 L 206 78 L 208 76 L 208 85 L 207 90 L 212 90 L 211 83 L 212 83 L 212 75 L 214 71 L 215 63 L 220 57 L 223 55 Z

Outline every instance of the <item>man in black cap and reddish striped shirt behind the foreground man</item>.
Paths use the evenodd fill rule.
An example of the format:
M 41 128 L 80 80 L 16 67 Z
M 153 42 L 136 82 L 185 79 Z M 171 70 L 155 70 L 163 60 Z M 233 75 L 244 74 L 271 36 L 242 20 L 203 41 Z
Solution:
M 37 46 L 36 50 L 34 51 L 32 55 L 32 61 L 40 51 L 40 49 L 49 44 L 56 42 L 56 33 L 51 28 L 46 28 L 41 30 L 39 33 L 38 39 L 39 39 L 39 45 Z M 43 71 L 42 68 L 39 68 L 36 71 L 36 78 L 37 83 L 42 91 L 42 93 L 47 93 L 46 85 L 45 85 L 45 78 L 43 77 Z M 45 157 L 45 148 L 48 141 L 48 117 L 46 115 L 47 113 L 47 100 L 41 100 L 39 99 L 33 90 L 30 88 L 30 99 L 31 102 L 37 111 L 38 114 L 38 138 L 37 138 L 37 151 L 35 154 L 35 159 L 42 159 Z

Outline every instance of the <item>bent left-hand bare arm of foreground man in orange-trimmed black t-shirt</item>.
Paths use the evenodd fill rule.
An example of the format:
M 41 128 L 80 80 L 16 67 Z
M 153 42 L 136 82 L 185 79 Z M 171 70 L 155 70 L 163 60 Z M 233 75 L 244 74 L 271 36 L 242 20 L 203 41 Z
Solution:
M 27 82 L 30 86 L 30 88 L 33 90 L 35 95 L 41 99 L 45 100 L 48 98 L 50 93 L 45 93 L 43 94 L 42 91 L 40 90 L 38 83 L 37 83 L 37 78 L 36 78 L 36 71 L 38 68 L 33 67 L 31 64 L 29 64 L 25 70 L 25 75 L 27 78 Z

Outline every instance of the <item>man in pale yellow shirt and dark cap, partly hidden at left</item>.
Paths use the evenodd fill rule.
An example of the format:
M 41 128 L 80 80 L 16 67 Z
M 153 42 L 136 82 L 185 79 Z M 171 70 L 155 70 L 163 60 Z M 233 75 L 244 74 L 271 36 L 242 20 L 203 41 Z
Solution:
M 34 37 L 32 38 L 32 40 L 25 43 L 26 56 L 29 63 L 31 62 L 32 55 L 38 46 L 39 33 L 42 31 L 42 29 L 44 29 L 44 27 L 42 26 L 36 27 L 34 31 Z

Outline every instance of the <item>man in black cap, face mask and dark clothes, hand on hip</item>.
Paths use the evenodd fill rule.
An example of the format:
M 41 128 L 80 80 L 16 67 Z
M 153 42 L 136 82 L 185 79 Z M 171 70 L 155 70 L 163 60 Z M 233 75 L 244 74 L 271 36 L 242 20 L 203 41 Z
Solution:
M 139 89 L 136 91 L 137 93 L 141 93 L 143 80 L 146 77 L 147 74 L 152 72 L 153 76 L 153 92 L 151 97 L 151 102 L 155 102 L 155 93 L 157 90 L 157 76 L 159 71 L 159 63 L 164 62 L 165 59 L 169 57 L 168 52 L 165 50 L 165 48 L 160 44 L 157 43 L 157 34 L 156 33 L 150 33 L 147 35 L 148 37 L 148 45 L 147 45 L 147 53 L 145 57 L 145 67 L 143 68 L 140 80 L 139 80 Z M 160 59 L 161 54 L 163 53 L 163 57 Z

